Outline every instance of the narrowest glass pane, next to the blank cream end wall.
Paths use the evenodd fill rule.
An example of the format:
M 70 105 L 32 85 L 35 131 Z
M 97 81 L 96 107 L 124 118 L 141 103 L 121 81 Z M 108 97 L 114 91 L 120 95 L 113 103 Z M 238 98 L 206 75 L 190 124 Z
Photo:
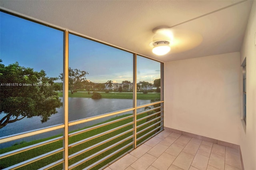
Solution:
M 137 56 L 137 106 L 160 101 L 160 62 Z

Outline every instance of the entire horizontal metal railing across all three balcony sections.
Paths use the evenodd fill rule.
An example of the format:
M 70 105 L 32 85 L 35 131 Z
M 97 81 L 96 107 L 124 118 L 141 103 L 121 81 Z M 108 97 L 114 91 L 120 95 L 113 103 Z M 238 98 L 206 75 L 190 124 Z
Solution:
M 149 103 L 149 104 L 146 104 L 146 105 L 141 105 L 141 106 L 136 107 L 136 109 L 140 109 L 140 108 L 148 107 L 148 106 L 153 106 L 153 105 L 160 104 L 160 103 L 163 103 L 163 102 L 164 102 L 164 101 L 158 101 L 158 102 Z M 161 108 L 163 108 L 163 106 L 155 107 L 155 108 L 152 108 L 152 109 L 148 109 L 148 110 L 146 110 L 146 111 L 142 111 L 142 112 L 140 112 L 140 113 L 136 113 L 136 116 L 142 115 L 142 114 L 147 113 L 147 112 L 150 112 L 150 111 L 155 111 L 156 109 L 161 109 Z M 125 113 L 125 112 L 128 112 L 128 111 L 134 111 L 134 110 L 135 110 L 135 108 L 130 108 L 130 109 L 125 109 L 125 110 L 122 110 L 122 111 L 112 112 L 112 113 L 108 113 L 108 114 L 104 114 L 104 115 L 100 115 L 100 116 L 96 116 L 96 117 L 90 117 L 90 118 L 86 118 L 86 119 L 82 119 L 82 120 L 78 120 L 78 121 L 71 121 L 71 122 L 68 123 L 68 126 L 70 127 L 70 126 L 73 126 L 73 125 L 78 125 L 78 124 L 81 124 L 81 123 L 86 123 L 86 122 L 88 122 L 88 121 L 93 121 L 93 120 L 96 120 L 96 119 L 101 119 L 101 118 L 105 118 L 105 117 L 109 117 L 109 116 L 113 116 L 113 115 L 118 115 L 118 114 L 120 114 L 120 113 Z M 158 115 L 158 114 L 160 114 L 160 113 L 161 113 L 161 111 L 158 111 L 158 112 L 153 113 L 153 114 L 151 114 L 151 115 L 146 115 L 146 116 L 144 116 L 144 117 L 142 117 L 142 118 L 140 118 L 140 119 L 137 119 L 136 122 L 140 122 L 140 121 L 143 121 L 143 120 L 145 120 L 145 119 L 147 119 L 147 118 L 154 117 L 154 116 L 156 116 L 156 115 Z M 121 125 L 121 126 L 112 128 L 112 129 L 110 129 L 110 130 L 106 130 L 106 131 L 101 132 L 101 133 L 99 133 L 99 134 L 96 134 L 96 135 L 94 135 L 94 136 L 90 136 L 90 137 L 88 137 L 88 138 L 85 138 L 85 139 L 79 140 L 79 141 L 77 141 L 77 142 L 74 142 L 74 143 L 72 143 L 72 144 L 69 144 L 69 145 L 68 145 L 68 148 L 72 148 L 72 147 L 74 147 L 74 146 L 78 146 L 79 144 L 82 144 L 82 143 L 84 143 L 84 142 L 88 142 L 88 141 L 90 141 L 90 140 L 93 140 L 93 139 L 98 138 L 98 137 L 100 137 L 100 136 L 103 136 L 103 135 L 105 135 L 105 134 L 109 134 L 109 133 L 114 132 L 114 131 L 116 131 L 116 130 L 119 130 L 119 129 L 121 129 L 121 128 L 127 127 L 127 126 L 129 126 L 129 125 L 134 125 L 134 121 L 132 121 L 132 118 L 133 118 L 133 117 L 134 117 L 134 115 L 128 115 L 128 116 L 126 116 L 126 117 L 122 117 L 122 118 L 116 119 L 116 120 L 114 120 L 114 121 L 102 123 L 102 124 L 99 124 L 99 125 L 96 125 L 96 126 L 93 126 L 93 127 L 89 127 L 89 128 L 83 129 L 83 130 L 78 130 L 78 131 L 76 131 L 76 132 L 71 132 L 70 134 L 68 134 L 68 137 L 76 136 L 76 135 L 78 135 L 78 134 L 82 134 L 82 133 L 84 133 L 84 132 L 88 132 L 88 131 L 94 130 L 94 129 L 96 129 L 96 128 L 100 128 L 100 127 L 104 127 L 104 126 L 107 126 L 107 125 L 110 125 L 110 124 L 113 124 L 113 123 L 117 123 L 117 122 L 119 122 L 119 121 L 124 121 L 124 120 L 126 120 L 126 119 L 131 119 L 131 122 L 129 122 L 129 123 L 126 123 L 126 124 L 124 124 L 124 125 Z M 156 135 L 157 133 L 159 133 L 159 132 L 156 132 L 156 130 L 160 129 L 161 126 L 158 126 L 158 127 L 156 127 L 156 128 L 154 128 L 154 127 L 157 126 L 157 125 L 160 125 L 160 123 L 162 123 L 161 120 L 158 121 L 159 119 L 162 119 L 162 118 L 163 118 L 163 116 L 158 116 L 158 117 L 156 117 L 156 118 L 154 118 L 154 119 L 152 119 L 152 120 L 146 121 L 145 123 L 142 123 L 141 125 L 138 125 L 138 126 L 134 127 L 134 128 L 137 128 L 137 129 L 138 129 L 138 128 L 144 127 L 145 125 L 148 125 L 147 127 L 143 128 L 142 130 L 136 132 L 136 134 L 133 134 L 133 135 L 130 135 L 130 136 L 126 137 L 126 138 L 123 138 L 123 139 L 119 140 L 118 142 L 115 142 L 114 144 L 111 144 L 110 146 L 107 146 L 106 148 L 104 148 L 104 149 L 102 149 L 102 150 L 100 150 L 100 151 L 98 151 L 98 152 L 96 152 L 96 153 L 94 153 L 94 154 L 92 154 L 92 155 L 90 155 L 90 156 L 88 156 L 88 157 L 86 157 L 86 158 L 83 158 L 82 160 L 79 160 L 78 162 L 76 162 L 76 163 L 70 165 L 68 168 L 69 168 L 69 169 L 75 168 L 76 166 L 79 166 L 80 164 L 83 164 L 84 162 L 86 162 L 86 161 L 88 161 L 88 160 L 90 160 L 90 159 L 95 158 L 96 156 L 102 154 L 103 152 L 106 152 L 106 151 L 110 150 L 111 148 L 114 148 L 115 146 L 118 146 L 118 145 L 120 145 L 120 144 L 126 142 L 127 140 L 130 140 L 131 138 L 134 137 L 134 135 L 138 135 L 138 134 L 142 134 L 142 133 L 145 133 L 145 132 L 146 132 L 145 134 L 143 134 L 143 135 L 140 136 L 139 138 L 136 138 L 136 141 L 141 140 L 142 138 L 145 138 L 146 136 L 148 136 L 148 135 L 150 135 L 150 134 L 152 134 L 152 133 L 154 133 L 154 132 L 155 132 L 155 133 L 152 134 L 152 136 Z M 157 121 L 157 122 L 156 122 L 156 123 L 153 123 L 152 125 L 149 125 L 150 123 L 152 123 L 152 122 L 154 122 L 154 121 Z M 36 134 L 40 134 L 40 133 L 44 133 L 44 132 L 50 132 L 50 131 L 52 131 L 52 130 L 57 130 L 57 129 L 61 129 L 61 128 L 64 128 L 64 124 L 59 124 L 59 125 L 54 125 L 54 126 L 47 127 L 47 128 L 40 128 L 40 129 L 36 129 L 36 130 L 30 130 L 30 131 L 27 131 L 27 132 L 22 132 L 22 133 L 18 133 L 18 134 L 13 134 L 13 135 L 9 135 L 9 136 L 4 136 L 4 137 L 0 138 L 0 144 L 1 144 L 1 143 L 5 143 L 5 142 L 10 142 L 10 141 L 12 141 L 12 140 L 17 140 L 17 139 L 20 139 L 20 138 L 25 138 L 25 137 L 28 137 L 28 136 L 34 136 L 34 135 L 36 135 Z M 119 134 L 116 134 L 116 135 L 112 136 L 111 138 L 108 138 L 108 139 L 106 139 L 106 140 L 103 140 L 103 141 L 101 141 L 101 142 L 98 142 L 98 143 L 96 143 L 96 144 L 93 144 L 92 146 L 89 146 L 89 147 L 84 148 L 84 149 L 82 149 L 82 150 L 80 150 L 80 151 L 78 151 L 78 152 L 76 152 L 76 153 L 74 153 L 74 154 L 71 154 L 71 155 L 68 156 L 68 159 L 70 160 L 70 159 L 72 159 L 72 158 L 75 158 L 76 156 L 78 156 L 78 155 L 80 155 L 80 154 L 86 153 L 86 152 L 88 152 L 89 150 L 92 150 L 92 149 L 94 149 L 94 148 L 96 148 L 96 147 L 98 147 L 98 146 L 101 146 L 101 145 L 103 145 L 103 144 L 106 144 L 107 142 L 109 142 L 109 141 L 111 141 L 111 140 L 114 140 L 114 139 L 119 138 L 119 137 L 121 137 L 121 136 L 123 136 L 123 135 L 125 135 L 125 134 L 128 134 L 129 132 L 134 131 L 134 128 L 130 128 L 130 129 L 124 131 L 124 132 L 120 132 Z M 152 129 L 152 128 L 154 128 L 154 129 Z M 150 130 L 150 129 L 152 129 L 152 130 Z M 150 131 L 147 132 L 147 130 L 150 130 Z M 151 136 L 151 137 L 152 137 L 152 136 Z M 56 138 L 53 138 L 53 139 L 50 139 L 50 140 L 46 140 L 46 141 L 43 141 L 43 142 L 39 142 L 39 143 L 37 143 L 37 144 L 33 144 L 33 145 L 30 145 L 30 146 L 26 146 L 26 147 L 23 147 L 23 148 L 19 148 L 19 149 L 16 149 L 16 150 L 12 150 L 12 151 L 10 151 L 10 152 L 6 152 L 6 153 L 3 153 L 3 154 L 0 154 L 0 159 L 7 158 L 8 156 L 13 156 L 13 155 L 15 155 L 15 154 L 19 154 L 19 153 L 22 153 L 22 152 L 25 152 L 25 151 L 28 151 L 28 150 L 32 150 L 32 149 L 34 149 L 34 148 L 38 148 L 38 147 L 40 147 L 40 146 L 44 146 L 44 145 L 47 145 L 47 144 L 50 144 L 50 143 L 53 143 L 53 142 L 57 142 L 57 141 L 63 140 L 63 139 L 64 139 L 64 136 L 59 136 L 59 137 L 56 137 Z M 146 139 L 146 140 L 147 140 L 147 139 Z M 146 141 L 146 140 L 145 140 L 145 141 Z M 119 148 L 118 150 L 115 150 L 114 152 L 108 154 L 108 156 L 105 156 L 104 158 L 100 158 L 100 160 L 97 160 L 97 161 L 94 162 L 93 164 L 87 166 L 85 169 L 87 170 L 87 169 L 90 169 L 90 168 L 93 168 L 93 167 L 97 166 L 97 165 L 100 164 L 101 162 L 103 162 L 103 161 L 105 161 L 105 160 L 108 160 L 108 159 L 111 158 L 112 156 L 118 154 L 119 152 L 123 151 L 124 149 L 128 148 L 129 146 L 132 146 L 133 144 L 134 144 L 134 141 L 133 141 L 133 142 L 130 142 L 129 144 L 126 144 L 125 146 L 122 146 L 122 147 Z M 140 144 L 141 144 L 141 143 L 140 143 Z M 140 144 L 138 144 L 137 146 L 139 146 Z M 130 151 L 131 151 L 131 150 L 133 150 L 133 149 L 130 149 Z M 36 156 L 36 157 L 34 157 L 34 158 L 31 158 L 31 159 L 28 159 L 28 160 L 26 160 L 26 161 L 20 162 L 20 163 L 18 163 L 18 164 L 14 164 L 14 165 L 12 165 L 12 166 L 10 166 L 10 167 L 8 167 L 8 168 L 5 168 L 5 169 L 6 169 L 6 170 L 7 170 L 7 169 L 8 169 L 8 170 L 9 170 L 9 169 L 17 169 L 17 168 L 20 168 L 20 167 L 22 167 L 22 166 L 26 166 L 26 165 L 28 165 L 28 164 L 31 164 L 31 163 L 33 163 L 33 162 L 36 162 L 36 161 L 41 160 L 41 159 L 43 159 L 43 158 L 46 158 L 46 157 L 48 157 L 48 156 L 52 156 L 52 155 L 54 155 L 54 154 L 56 154 L 56 153 L 59 153 L 59 152 L 62 152 L 62 151 L 64 151 L 64 148 L 63 148 L 63 147 L 62 147 L 62 148 L 59 148 L 59 149 L 56 149 L 56 150 L 52 150 L 51 152 L 47 152 L 47 153 L 45 153 L 45 154 L 41 154 L 41 155 L 39 155 L 39 156 Z M 57 166 L 57 165 L 59 165 L 59 164 L 62 164 L 63 162 L 64 162 L 64 158 L 62 158 L 62 159 L 60 159 L 60 160 L 58 160 L 58 161 L 52 162 L 51 164 L 48 164 L 48 165 L 46 165 L 46 166 L 44 166 L 44 167 L 42 167 L 42 168 L 40 168 L 40 169 L 50 169 L 50 168 L 52 168 L 52 167 L 54 167 L 54 166 Z

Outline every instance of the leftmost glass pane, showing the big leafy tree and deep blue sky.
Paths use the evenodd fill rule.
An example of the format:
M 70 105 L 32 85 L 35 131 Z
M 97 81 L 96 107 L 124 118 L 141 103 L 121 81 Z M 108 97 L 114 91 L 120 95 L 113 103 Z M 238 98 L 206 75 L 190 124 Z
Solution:
M 0 136 L 63 123 L 63 32 L 4 12 L 0 30 Z

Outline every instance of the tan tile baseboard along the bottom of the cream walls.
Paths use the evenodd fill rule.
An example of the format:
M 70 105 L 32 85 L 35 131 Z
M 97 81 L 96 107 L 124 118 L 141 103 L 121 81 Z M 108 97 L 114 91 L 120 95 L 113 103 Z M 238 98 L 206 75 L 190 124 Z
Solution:
M 189 137 L 192 137 L 192 138 L 206 140 L 208 142 L 212 142 L 212 143 L 215 143 L 215 144 L 220 144 L 222 146 L 235 148 L 235 149 L 239 150 L 239 152 L 240 152 L 242 170 L 244 170 L 244 163 L 243 163 L 243 159 L 242 159 L 242 153 L 241 153 L 240 145 L 232 144 L 232 143 L 229 143 L 229 142 L 224 142 L 222 140 L 217 140 L 217 139 L 213 139 L 213 138 L 208 138 L 206 136 L 201 136 L 201 135 L 190 133 L 190 132 L 184 132 L 182 130 L 177 130 L 177 129 L 174 129 L 174 128 L 164 127 L 164 130 L 169 131 L 169 132 L 175 132 L 175 133 L 178 133 L 178 134 L 183 134 L 183 135 L 186 135 L 186 136 L 189 136 Z

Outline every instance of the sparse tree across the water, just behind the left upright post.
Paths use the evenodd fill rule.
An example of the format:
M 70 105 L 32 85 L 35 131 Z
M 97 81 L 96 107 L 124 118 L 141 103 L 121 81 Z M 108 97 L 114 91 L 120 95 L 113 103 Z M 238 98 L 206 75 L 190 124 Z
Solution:
M 88 74 L 86 71 L 71 69 L 71 67 L 68 68 L 68 88 L 71 94 L 73 94 L 76 89 L 79 89 L 79 87 L 82 87 L 83 83 L 86 81 L 86 74 Z M 63 81 L 63 73 L 61 73 L 59 77 Z

